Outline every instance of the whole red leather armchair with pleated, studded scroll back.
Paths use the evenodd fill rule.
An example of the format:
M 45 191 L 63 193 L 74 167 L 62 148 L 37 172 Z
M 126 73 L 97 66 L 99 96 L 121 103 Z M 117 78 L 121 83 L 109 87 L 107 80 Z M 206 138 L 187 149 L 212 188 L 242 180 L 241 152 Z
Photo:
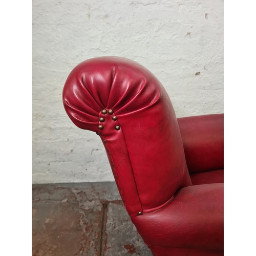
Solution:
M 177 119 L 160 81 L 120 57 L 76 66 L 63 103 L 75 125 L 100 136 L 153 254 L 223 255 L 223 114 Z

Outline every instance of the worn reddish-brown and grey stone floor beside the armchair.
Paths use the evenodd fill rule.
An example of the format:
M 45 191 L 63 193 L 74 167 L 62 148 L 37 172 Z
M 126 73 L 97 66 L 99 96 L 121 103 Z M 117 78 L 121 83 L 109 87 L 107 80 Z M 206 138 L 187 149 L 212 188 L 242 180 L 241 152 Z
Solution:
M 152 256 L 114 182 L 32 185 L 32 256 Z

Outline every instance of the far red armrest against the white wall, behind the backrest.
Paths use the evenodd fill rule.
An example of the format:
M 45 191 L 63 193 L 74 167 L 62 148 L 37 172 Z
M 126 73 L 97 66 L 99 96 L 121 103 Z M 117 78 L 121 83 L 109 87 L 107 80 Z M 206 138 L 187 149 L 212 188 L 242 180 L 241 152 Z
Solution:
M 189 173 L 223 169 L 224 114 L 178 118 Z

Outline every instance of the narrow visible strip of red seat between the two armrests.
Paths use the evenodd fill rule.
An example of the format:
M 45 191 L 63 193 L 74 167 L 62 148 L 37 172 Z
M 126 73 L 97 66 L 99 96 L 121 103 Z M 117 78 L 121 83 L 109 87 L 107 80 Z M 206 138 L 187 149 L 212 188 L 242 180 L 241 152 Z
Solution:
M 224 183 L 224 170 L 208 170 L 208 172 L 191 173 L 190 179 L 193 185 Z

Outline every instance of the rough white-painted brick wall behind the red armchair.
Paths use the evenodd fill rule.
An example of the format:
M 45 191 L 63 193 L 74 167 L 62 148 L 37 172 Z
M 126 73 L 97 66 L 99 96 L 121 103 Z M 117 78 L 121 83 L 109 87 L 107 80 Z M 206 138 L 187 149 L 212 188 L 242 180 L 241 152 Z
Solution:
M 32 1 L 32 182 L 113 181 L 99 137 L 62 106 L 81 61 L 133 59 L 153 72 L 177 117 L 223 113 L 223 0 Z

